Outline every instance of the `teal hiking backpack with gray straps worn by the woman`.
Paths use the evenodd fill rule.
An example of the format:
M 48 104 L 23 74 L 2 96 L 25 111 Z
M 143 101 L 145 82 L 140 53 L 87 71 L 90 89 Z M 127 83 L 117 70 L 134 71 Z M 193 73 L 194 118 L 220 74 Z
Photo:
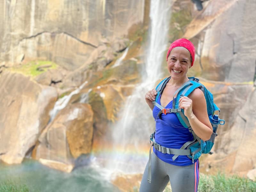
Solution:
M 162 80 L 157 86 L 156 86 L 156 100 L 158 100 L 159 95 L 163 92 L 166 84 L 169 82 L 171 77 L 166 77 L 164 80 Z M 192 159 L 192 163 L 194 163 L 194 160 L 198 159 L 202 153 L 209 153 L 212 154 L 211 149 L 214 144 L 214 139 L 218 135 L 217 129 L 218 125 L 224 125 L 225 121 L 223 119 L 219 118 L 220 109 L 216 106 L 216 104 L 213 102 L 213 96 L 212 93 L 209 92 L 203 84 L 199 82 L 199 79 L 196 77 L 188 77 L 189 81 L 184 83 L 173 95 L 177 93 L 177 97 L 175 102 L 172 103 L 172 109 L 164 108 L 163 106 L 159 105 L 157 102 L 153 101 L 154 106 L 158 107 L 160 112 L 158 113 L 159 118 L 161 119 L 161 116 L 163 114 L 167 113 L 176 113 L 180 123 L 188 128 L 189 132 L 193 134 L 193 140 L 186 142 L 180 149 L 174 149 L 174 148 L 166 148 L 164 146 L 161 146 L 156 143 L 154 139 L 155 132 L 151 134 L 150 136 L 150 142 L 152 141 L 152 146 L 154 148 L 162 153 L 168 153 L 173 154 L 172 160 L 174 161 L 179 155 L 187 155 L 188 158 Z M 207 113 L 210 119 L 210 122 L 212 124 L 212 136 L 209 140 L 203 141 L 199 137 L 196 136 L 195 132 L 192 130 L 188 118 L 184 115 L 184 109 L 179 108 L 179 100 L 180 97 L 188 96 L 191 92 L 193 92 L 196 88 L 199 88 L 203 93 L 206 100 L 207 105 Z M 173 97 L 174 101 L 174 97 Z M 149 151 L 149 165 L 148 166 L 148 182 L 151 182 L 151 148 Z

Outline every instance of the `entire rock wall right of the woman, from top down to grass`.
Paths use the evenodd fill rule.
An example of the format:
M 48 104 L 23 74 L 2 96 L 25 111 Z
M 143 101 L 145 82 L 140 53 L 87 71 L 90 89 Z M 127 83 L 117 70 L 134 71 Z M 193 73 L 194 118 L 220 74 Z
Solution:
M 226 124 L 219 127 L 216 154 L 202 162 L 241 175 L 255 166 L 255 8 L 254 1 L 209 1 L 184 34 L 197 44 L 200 76 L 222 82 L 209 89 Z M 209 170 L 204 163 L 201 169 Z

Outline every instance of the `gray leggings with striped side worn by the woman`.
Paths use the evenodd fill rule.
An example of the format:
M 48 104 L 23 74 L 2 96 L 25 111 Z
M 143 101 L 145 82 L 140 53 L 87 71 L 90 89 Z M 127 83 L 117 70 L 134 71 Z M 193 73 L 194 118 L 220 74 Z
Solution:
M 172 192 L 196 192 L 199 182 L 199 161 L 188 166 L 176 166 L 160 160 L 153 152 L 151 173 L 152 180 L 148 183 L 147 163 L 140 184 L 140 192 L 163 191 L 169 180 Z

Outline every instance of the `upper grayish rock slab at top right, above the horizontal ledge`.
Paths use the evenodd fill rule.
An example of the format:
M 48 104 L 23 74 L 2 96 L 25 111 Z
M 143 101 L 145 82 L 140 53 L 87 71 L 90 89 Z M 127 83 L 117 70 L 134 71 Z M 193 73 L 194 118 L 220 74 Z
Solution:
M 188 25 L 184 36 L 200 40 L 201 76 L 225 82 L 253 81 L 256 26 L 252 23 L 256 16 L 251 12 L 255 7 L 254 1 L 210 1 Z

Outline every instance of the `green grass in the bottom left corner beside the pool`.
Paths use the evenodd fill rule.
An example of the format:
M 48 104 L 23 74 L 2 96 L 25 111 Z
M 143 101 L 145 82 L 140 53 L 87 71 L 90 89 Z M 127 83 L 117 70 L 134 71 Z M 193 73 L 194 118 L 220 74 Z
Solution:
M 28 192 L 28 186 L 11 180 L 0 181 L 1 192 Z

